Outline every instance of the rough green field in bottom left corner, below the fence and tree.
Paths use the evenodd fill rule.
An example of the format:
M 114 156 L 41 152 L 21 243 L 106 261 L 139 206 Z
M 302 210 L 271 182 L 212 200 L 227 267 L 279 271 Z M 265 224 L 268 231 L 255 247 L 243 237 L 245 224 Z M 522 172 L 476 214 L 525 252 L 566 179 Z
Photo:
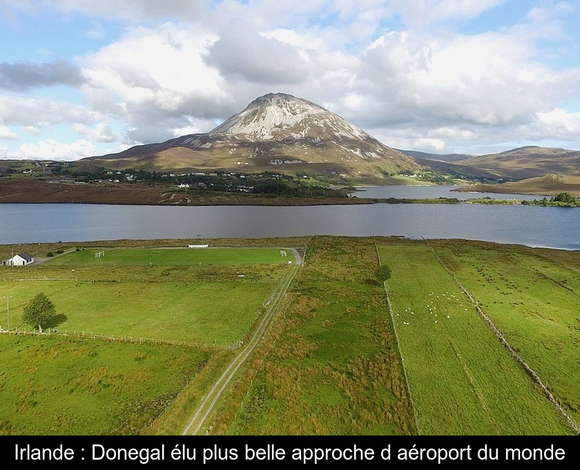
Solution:
M 0 335 L 0 434 L 139 434 L 211 353 L 52 336 Z

